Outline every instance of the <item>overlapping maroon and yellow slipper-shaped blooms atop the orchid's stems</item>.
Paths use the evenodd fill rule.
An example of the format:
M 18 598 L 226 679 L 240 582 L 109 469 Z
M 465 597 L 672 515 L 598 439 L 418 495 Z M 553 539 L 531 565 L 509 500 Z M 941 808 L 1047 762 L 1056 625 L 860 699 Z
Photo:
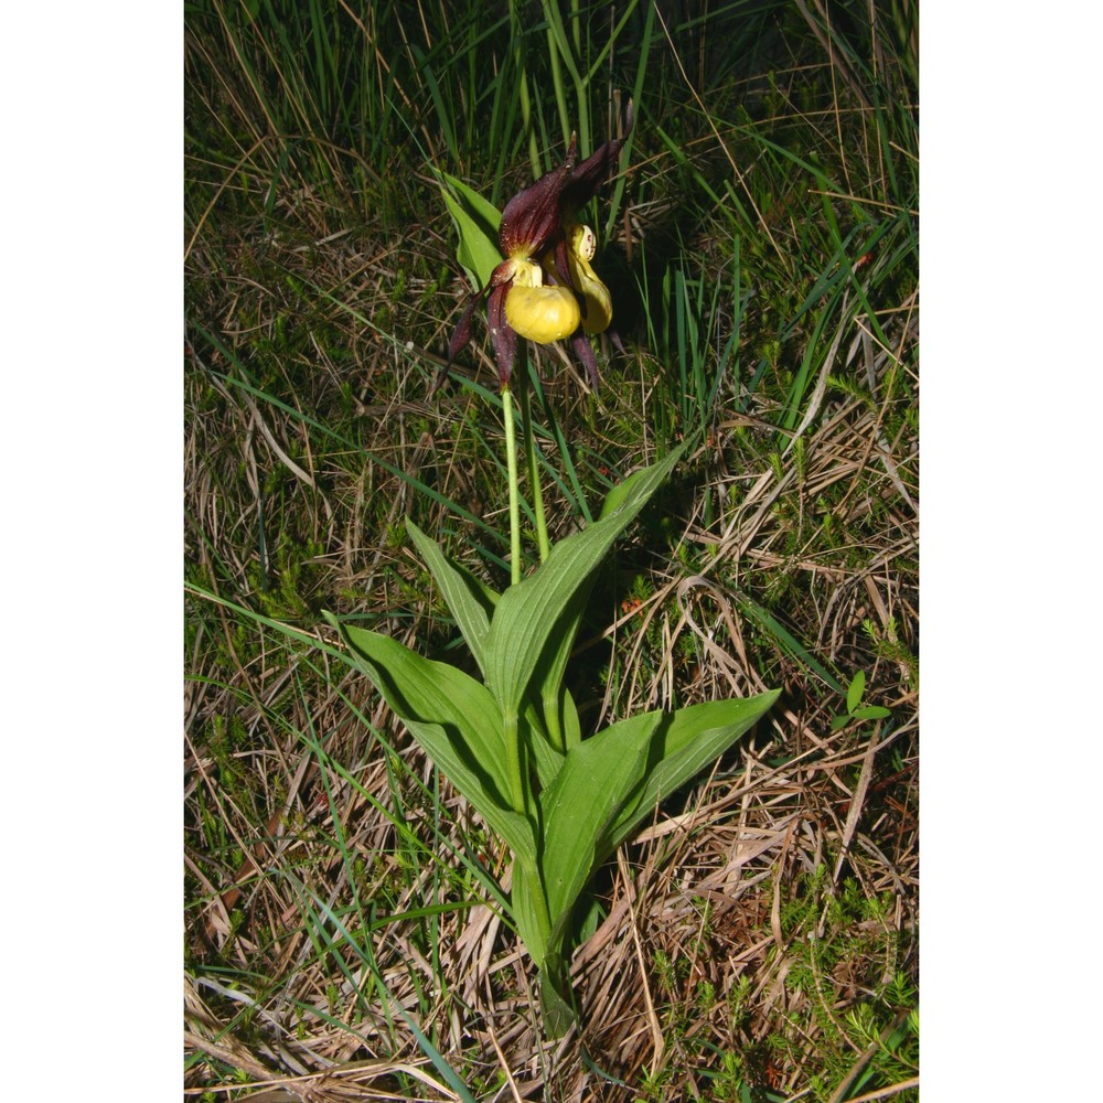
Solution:
M 625 137 L 632 122 L 629 101 Z M 569 338 L 591 385 L 598 385 L 598 364 L 589 334 L 608 329 L 612 299 L 590 267 L 597 248 L 593 231 L 578 223 L 575 215 L 609 178 L 623 144 L 624 138 L 607 141 L 576 165 L 576 139 L 571 135 L 563 164 L 505 205 L 499 245 L 506 259 L 460 318 L 448 345 L 449 363 L 471 340 L 475 307 L 489 295 L 490 335 L 503 388 L 513 371 L 518 335 L 538 344 Z

